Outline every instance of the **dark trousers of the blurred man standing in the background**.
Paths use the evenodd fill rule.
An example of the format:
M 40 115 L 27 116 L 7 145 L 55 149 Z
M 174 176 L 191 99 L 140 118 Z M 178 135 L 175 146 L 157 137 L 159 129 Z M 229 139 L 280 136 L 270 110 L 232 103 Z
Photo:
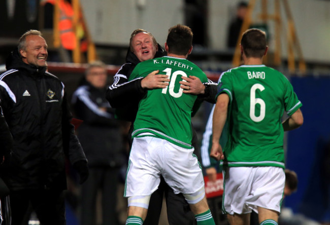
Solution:
M 81 224 L 96 224 L 96 196 L 102 191 L 102 221 L 104 225 L 117 225 L 118 168 L 89 167 L 89 177 L 81 189 Z

